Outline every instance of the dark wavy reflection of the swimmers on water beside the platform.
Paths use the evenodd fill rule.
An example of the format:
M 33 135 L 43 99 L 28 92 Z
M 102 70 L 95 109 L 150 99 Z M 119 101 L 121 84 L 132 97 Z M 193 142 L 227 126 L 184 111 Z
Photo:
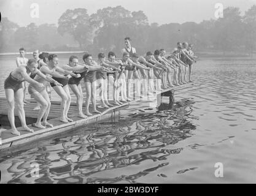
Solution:
M 192 104 L 178 102 L 171 110 L 145 108 L 143 113 L 127 115 L 119 122 L 89 127 L 89 134 L 55 138 L 43 147 L 1 157 L 1 165 L 12 176 L 6 183 L 136 183 L 141 176 L 168 165 L 168 156 L 182 151 L 169 145 L 191 137 L 190 130 L 196 129 L 189 121 Z M 130 175 L 92 177 L 99 171 L 141 165 L 149 160 L 164 162 Z M 36 179 L 31 176 L 31 164 L 35 162 L 40 168 Z

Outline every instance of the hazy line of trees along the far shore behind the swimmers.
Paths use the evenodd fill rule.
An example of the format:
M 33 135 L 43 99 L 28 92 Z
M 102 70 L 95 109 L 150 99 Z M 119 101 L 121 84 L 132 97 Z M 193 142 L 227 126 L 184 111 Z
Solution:
M 256 47 L 256 6 L 244 15 L 238 7 L 227 7 L 223 18 L 186 22 L 149 24 L 139 10 L 130 12 L 122 6 L 106 7 L 88 15 L 87 9 L 66 10 L 58 25 L 34 23 L 18 26 L 2 18 L 0 24 L 0 52 L 39 48 L 41 51 L 116 51 L 120 55 L 124 37 L 129 36 L 138 53 L 165 48 L 173 50 L 178 41 L 193 43 L 196 51 L 236 52 L 252 55 Z

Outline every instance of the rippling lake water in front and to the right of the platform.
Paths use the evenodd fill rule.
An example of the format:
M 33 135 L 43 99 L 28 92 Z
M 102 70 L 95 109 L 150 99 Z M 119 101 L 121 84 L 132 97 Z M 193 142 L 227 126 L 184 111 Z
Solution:
M 256 183 L 255 64 L 201 59 L 174 108 L 137 102 L 115 122 L 2 154 L 1 183 Z

